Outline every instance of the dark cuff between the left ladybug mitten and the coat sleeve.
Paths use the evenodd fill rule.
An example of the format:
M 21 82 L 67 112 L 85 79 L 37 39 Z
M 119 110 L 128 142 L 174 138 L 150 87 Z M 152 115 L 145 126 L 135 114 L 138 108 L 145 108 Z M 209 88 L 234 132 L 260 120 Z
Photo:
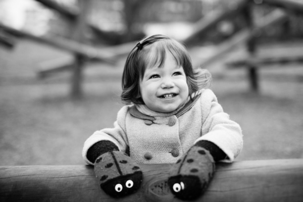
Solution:
M 119 151 L 119 148 L 109 140 L 98 141 L 87 150 L 86 158 L 88 161 L 94 163 L 100 155 L 109 151 Z

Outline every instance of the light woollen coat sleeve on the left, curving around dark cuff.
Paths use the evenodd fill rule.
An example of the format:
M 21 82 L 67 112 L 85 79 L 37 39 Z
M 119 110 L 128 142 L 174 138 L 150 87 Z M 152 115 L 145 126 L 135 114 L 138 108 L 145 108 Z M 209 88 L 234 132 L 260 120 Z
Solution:
M 93 165 L 87 159 L 87 151 L 88 149 L 98 141 L 109 140 L 118 146 L 120 151 L 126 152 L 126 148 L 128 145 L 128 139 L 126 136 L 126 126 L 125 126 L 125 118 L 128 112 L 129 106 L 124 106 L 118 112 L 117 120 L 114 123 L 114 128 L 105 128 L 102 130 L 95 131 L 87 140 L 84 142 L 82 157 L 84 161 L 88 164 Z

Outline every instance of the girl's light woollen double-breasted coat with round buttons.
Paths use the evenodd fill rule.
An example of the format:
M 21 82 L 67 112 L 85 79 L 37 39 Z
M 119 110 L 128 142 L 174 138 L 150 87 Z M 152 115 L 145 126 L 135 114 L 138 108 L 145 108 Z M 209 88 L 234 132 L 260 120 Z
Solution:
M 215 143 L 233 162 L 242 149 L 240 126 L 223 112 L 210 89 L 172 113 L 157 113 L 145 105 L 127 105 L 118 112 L 114 128 L 95 131 L 84 143 L 83 158 L 94 143 L 109 140 L 119 150 L 129 149 L 138 164 L 175 163 L 195 142 Z

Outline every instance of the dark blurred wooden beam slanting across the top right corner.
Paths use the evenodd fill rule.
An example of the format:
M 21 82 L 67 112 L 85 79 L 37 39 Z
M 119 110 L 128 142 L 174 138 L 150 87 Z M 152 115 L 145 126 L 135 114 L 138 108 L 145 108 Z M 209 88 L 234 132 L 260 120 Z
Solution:
M 262 1 L 265 4 L 278 6 L 284 9 L 288 9 L 290 11 L 299 12 L 301 14 L 303 13 L 303 1 L 301 0 L 262 0 Z

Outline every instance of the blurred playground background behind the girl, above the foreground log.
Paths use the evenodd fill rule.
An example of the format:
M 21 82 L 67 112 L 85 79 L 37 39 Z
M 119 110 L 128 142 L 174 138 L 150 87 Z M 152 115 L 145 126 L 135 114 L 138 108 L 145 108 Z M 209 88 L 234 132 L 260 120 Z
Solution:
M 240 124 L 236 161 L 303 158 L 300 0 L 0 0 L 0 166 L 84 164 L 112 127 L 127 54 L 183 43 Z

